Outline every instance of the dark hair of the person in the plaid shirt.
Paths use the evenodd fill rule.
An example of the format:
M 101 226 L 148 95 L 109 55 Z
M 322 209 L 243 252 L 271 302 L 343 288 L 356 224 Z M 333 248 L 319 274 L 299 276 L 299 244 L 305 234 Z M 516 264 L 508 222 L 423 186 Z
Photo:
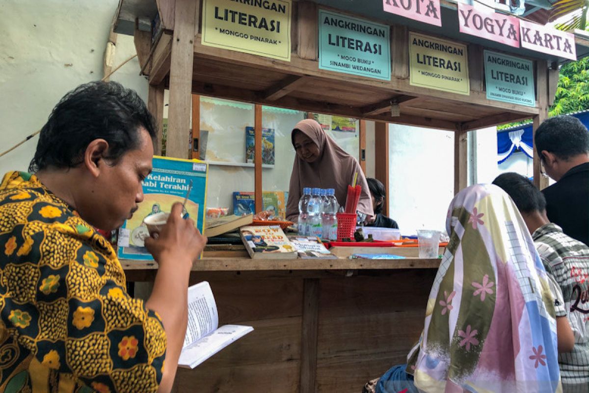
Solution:
M 532 213 L 546 210 L 544 194 L 534 186 L 534 183 L 519 173 L 503 173 L 493 180 L 495 186 L 501 187 L 514 201 L 519 212 Z

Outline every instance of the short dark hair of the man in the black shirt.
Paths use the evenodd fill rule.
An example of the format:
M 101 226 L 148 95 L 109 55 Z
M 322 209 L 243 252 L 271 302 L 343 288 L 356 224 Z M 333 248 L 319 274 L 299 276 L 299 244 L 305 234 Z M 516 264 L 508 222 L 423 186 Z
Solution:
M 546 150 L 561 160 L 589 153 L 589 132 L 581 121 L 571 115 L 549 118 L 540 124 L 534 136 L 538 156 Z

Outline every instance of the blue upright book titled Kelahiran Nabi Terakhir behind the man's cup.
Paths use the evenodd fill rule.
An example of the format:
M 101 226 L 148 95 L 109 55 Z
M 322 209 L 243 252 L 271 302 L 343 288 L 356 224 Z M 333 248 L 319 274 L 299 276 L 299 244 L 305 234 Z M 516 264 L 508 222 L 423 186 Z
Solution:
M 207 169 L 207 164 L 203 161 L 153 157 L 153 171 L 143 181 L 143 202 L 138 205 L 133 217 L 126 220 L 119 229 L 120 259 L 153 260 L 144 247 L 144 240 L 149 233 L 143 220 L 155 213 L 169 213 L 174 203 L 184 202 L 190 181 L 192 188 L 184 205 L 186 211 L 183 216 L 193 219 L 198 230 L 203 232 Z

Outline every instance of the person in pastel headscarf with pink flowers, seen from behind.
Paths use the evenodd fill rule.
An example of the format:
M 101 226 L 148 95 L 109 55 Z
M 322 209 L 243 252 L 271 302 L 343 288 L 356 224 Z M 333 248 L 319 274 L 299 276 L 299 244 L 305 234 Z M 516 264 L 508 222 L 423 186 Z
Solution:
M 560 392 L 554 299 L 515 204 L 491 184 L 468 187 L 446 230 L 421 338 L 376 393 Z

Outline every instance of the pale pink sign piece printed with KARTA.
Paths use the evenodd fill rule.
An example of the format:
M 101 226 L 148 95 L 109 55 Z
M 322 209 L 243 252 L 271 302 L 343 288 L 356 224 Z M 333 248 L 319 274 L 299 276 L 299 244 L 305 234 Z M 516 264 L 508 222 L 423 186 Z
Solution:
M 519 21 L 521 47 L 570 60 L 577 60 L 575 36 L 534 22 Z

